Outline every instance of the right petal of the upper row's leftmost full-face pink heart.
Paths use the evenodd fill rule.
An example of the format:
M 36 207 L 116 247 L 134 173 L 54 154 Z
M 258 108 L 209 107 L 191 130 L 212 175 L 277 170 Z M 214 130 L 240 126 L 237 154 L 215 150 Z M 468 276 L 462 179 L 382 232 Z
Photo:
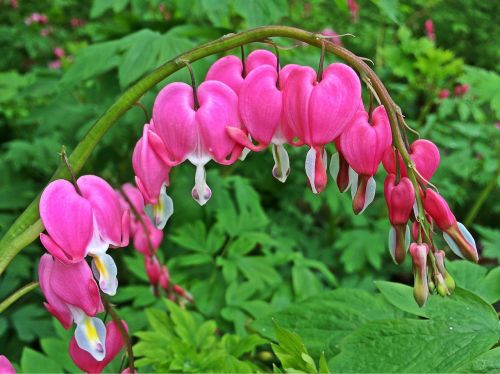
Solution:
M 198 88 L 198 97 L 200 108 L 196 120 L 203 147 L 216 162 L 222 163 L 236 146 L 227 133 L 227 127 L 242 127 L 238 97 L 228 86 L 217 81 L 203 82 Z

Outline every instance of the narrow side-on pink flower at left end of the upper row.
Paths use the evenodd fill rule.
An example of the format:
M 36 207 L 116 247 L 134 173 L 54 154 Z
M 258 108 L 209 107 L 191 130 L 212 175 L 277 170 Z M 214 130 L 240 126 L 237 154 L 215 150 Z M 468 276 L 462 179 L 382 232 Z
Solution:
M 158 138 L 154 130 L 153 121 L 144 125 L 143 136 L 134 148 L 132 167 L 135 183 L 144 197 L 145 212 L 158 229 L 163 229 L 174 212 L 173 201 L 167 195 L 171 166 L 160 159 L 151 146 L 150 138 Z

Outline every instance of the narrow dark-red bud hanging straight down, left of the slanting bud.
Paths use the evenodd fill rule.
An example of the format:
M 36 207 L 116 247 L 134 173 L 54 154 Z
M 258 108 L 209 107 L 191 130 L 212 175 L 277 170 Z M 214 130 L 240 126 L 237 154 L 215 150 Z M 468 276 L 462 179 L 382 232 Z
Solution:
M 403 177 L 396 183 L 396 176 L 389 174 L 384 182 L 384 195 L 392 225 L 389 230 L 389 251 L 392 259 L 401 264 L 410 245 L 407 223 L 415 202 L 415 190 L 408 178 Z

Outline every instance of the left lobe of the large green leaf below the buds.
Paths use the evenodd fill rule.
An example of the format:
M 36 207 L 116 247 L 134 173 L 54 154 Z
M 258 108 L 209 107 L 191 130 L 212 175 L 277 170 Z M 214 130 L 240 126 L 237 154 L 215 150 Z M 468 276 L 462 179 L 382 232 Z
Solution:
M 314 358 L 324 352 L 332 357 L 342 338 L 371 320 L 391 319 L 401 313 L 382 298 L 356 289 L 322 292 L 271 315 L 258 318 L 252 327 L 274 339 L 272 319 L 299 334 Z

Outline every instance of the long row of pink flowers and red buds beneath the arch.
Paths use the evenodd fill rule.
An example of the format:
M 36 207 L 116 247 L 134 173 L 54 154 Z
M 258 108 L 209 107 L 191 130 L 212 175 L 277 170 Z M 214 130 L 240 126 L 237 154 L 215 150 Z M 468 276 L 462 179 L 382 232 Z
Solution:
M 274 54 L 256 50 L 245 61 L 231 55 L 219 59 L 198 88 L 194 82 L 192 86 L 178 82 L 165 86 L 133 154 L 145 209 L 157 223 L 169 215 L 165 208 L 169 174 L 184 161 L 196 166 L 192 196 L 204 205 L 212 195 L 205 173 L 210 160 L 229 165 L 248 151 L 268 146 L 275 161 L 272 174 L 285 182 L 290 173 L 285 145 L 306 145 L 307 180 L 312 192 L 320 193 L 328 179 L 325 146 L 334 143 L 337 152 L 329 170 L 341 192 L 351 189 L 355 214 L 361 214 L 375 197 L 374 176 L 380 163 L 387 171 L 389 250 L 396 263 L 402 263 L 410 250 L 417 301 L 425 302 L 432 285 L 442 294 L 451 292 L 453 282 L 444 268 L 444 252 L 431 237 L 434 224 L 457 255 L 477 261 L 478 254 L 470 233 L 456 222 L 434 187 L 428 187 L 440 162 L 439 150 L 419 139 L 404 145 L 410 160 L 403 161 L 392 146 L 386 109 L 372 110 L 371 105 L 365 109 L 354 70 L 341 63 L 324 70 L 321 65 L 318 72 L 295 64 L 281 67 Z M 423 202 L 420 208 L 425 211 L 419 212 L 417 202 Z M 412 245 L 409 221 L 414 222 Z M 427 261 L 430 256 L 435 261 Z

